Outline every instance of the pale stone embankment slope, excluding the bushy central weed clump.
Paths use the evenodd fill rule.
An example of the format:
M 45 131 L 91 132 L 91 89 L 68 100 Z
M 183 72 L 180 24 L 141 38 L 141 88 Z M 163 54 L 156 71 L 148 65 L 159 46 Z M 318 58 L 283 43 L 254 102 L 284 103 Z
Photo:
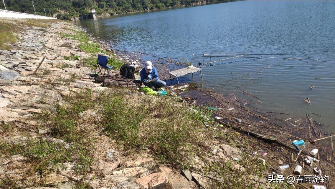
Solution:
M 164 155 L 160 154 L 169 154 L 168 152 L 160 151 L 158 155 L 154 155 L 153 151 L 166 149 L 165 144 L 160 147 L 159 141 L 150 144 L 151 148 L 140 146 L 137 148 L 140 149 L 139 152 L 128 153 L 119 141 L 110 137 L 117 133 L 106 135 L 108 129 L 97 124 L 99 120 L 106 118 L 101 115 L 101 110 L 94 106 L 94 100 L 98 102 L 113 99 L 85 100 L 85 95 L 102 96 L 117 91 L 115 88 L 109 89 L 101 83 L 95 83 L 94 78 L 90 76 L 94 71 L 86 66 L 85 61 L 92 56 L 96 57 L 97 53 L 83 50 L 80 47 L 83 41 L 71 37 L 64 38 L 66 34 L 75 35 L 74 31 L 79 31 L 72 24 L 58 21 L 48 23 L 48 26 L 45 29 L 25 28 L 25 31 L 17 34 L 17 42 L 12 44 L 11 50 L 0 50 L 0 188 L 195 189 L 226 186 L 220 184 L 224 181 L 222 178 L 231 178 L 231 183 L 228 183 L 231 188 L 246 185 L 271 188 L 262 178 L 262 175 L 270 172 L 264 173 L 261 171 L 265 169 L 257 168 L 265 161 L 249 158 L 240 149 L 233 147 L 236 146 L 236 142 L 242 142 L 231 136 L 234 131 L 227 128 L 228 130 L 221 129 L 222 131 L 216 132 L 222 125 L 219 126 L 210 120 L 206 121 L 206 127 L 213 127 L 212 130 L 202 127 L 208 132 L 216 132 L 216 136 L 202 144 L 205 145 L 204 150 L 192 152 L 193 158 L 184 166 L 185 170 L 178 169 L 180 166 L 174 166 L 174 163 L 180 162 L 164 163 L 161 160 L 164 159 Z M 108 52 L 106 49 L 104 51 Z M 75 60 L 65 58 L 74 55 Z M 46 59 L 37 70 L 37 74 L 33 75 L 43 57 Z M 118 71 L 114 70 L 113 74 L 117 75 Z M 83 90 L 88 92 L 80 93 Z M 136 92 L 136 89 L 121 89 L 121 93 L 126 99 L 127 95 L 131 95 L 129 99 L 135 105 L 146 98 L 145 95 Z M 71 94 L 76 94 L 75 98 L 69 99 L 68 95 Z M 160 97 L 150 97 L 150 100 L 157 103 L 162 101 Z M 71 109 L 69 113 L 70 110 L 66 108 L 70 105 L 66 102 L 74 102 L 72 106 L 75 110 Z M 81 104 L 83 102 L 84 104 Z M 178 100 L 172 104 L 172 107 L 176 108 L 181 106 L 182 103 Z M 136 109 L 134 110 L 136 112 Z M 189 109 L 186 110 L 189 112 Z M 162 111 L 160 110 L 161 113 Z M 135 112 L 129 114 L 129 120 L 135 119 Z M 155 120 L 158 120 L 159 115 L 154 116 Z M 198 121 L 201 117 L 197 118 Z M 80 123 L 78 128 L 71 126 L 74 121 Z M 65 128 L 65 131 L 59 128 Z M 176 128 L 172 127 L 172 130 L 174 129 Z M 197 132 L 197 138 L 206 137 L 206 134 L 201 133 L 202 130 Z M 83 138 L 77 136 L 84 134 Z M 164 140 L 164 136 L 168 134 L 170 133 L 157 135 Z M 184 140 L 193 141 L 192 136 L 188 137 Z M 91 138 L 94 140 L 87 144 Z M 152 140 L 154 141 L 151 138 L 150 141 Z M 248 141 L 246 143 L 248 145 Z M 77 147 L 72 148 L 75 145 Z M 185 151 L 186 158 L 188 148 L 193 145 L 198 144 L 189 145 L 187 148 L 184 146 L 183 149 L 177 149 L 177 152 Z M 60 151 L 61 154 L 57 153 Z M 87 154 L 89 156 L 85 156 Z M 182 157 L 182 154 L 184 152 L 178 155 Z M 160 160 L 157 160 L 157 157 Z M 44 167 L 42 164 L 45 164 Z M 255 172 L 256 170 L 261 171 Z

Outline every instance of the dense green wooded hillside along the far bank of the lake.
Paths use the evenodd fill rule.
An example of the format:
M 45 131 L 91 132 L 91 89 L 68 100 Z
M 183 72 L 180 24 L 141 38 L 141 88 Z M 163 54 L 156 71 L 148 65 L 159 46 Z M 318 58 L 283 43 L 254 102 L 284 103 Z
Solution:
M 159 1 L 93 1 L 93 0 L 71 0 L 71 1 L 34 1 L 36 13 L 38 15 L 57 16 L 59 19 L 71 20 L 77 18 L 91 17 L 90 9 L 96 10 L 98 16 L 109 16 L 130 12 L 143 12 L 172 7 L 193 6 L 207 3 L 229 2 L 222 0 L 209 1 L 179 1 L 179 0 L 159 0 Z M 7 10 L 35 14 L 31 1 L 7 0 L 5 1 Z M 4 9 L 0 3 L 0 8 Z M 44 8 L 45 11 L 44 12 Z

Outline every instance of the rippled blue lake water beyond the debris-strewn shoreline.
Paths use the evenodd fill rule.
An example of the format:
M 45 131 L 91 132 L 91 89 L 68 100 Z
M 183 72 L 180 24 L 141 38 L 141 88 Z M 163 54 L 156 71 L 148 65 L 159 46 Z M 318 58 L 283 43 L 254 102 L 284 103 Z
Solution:
M 78 23 L 113 48 L 183 57 L 194 65 L 203 61 L 194 53 L 295 54 L 204 67 L 203 88 L 240 97 L 250 92 L 261 99 L 253 106 L 296 120 L 310 114 L 333 125 L 323 132 L 335 133 L 335 1 L 238 1 Z

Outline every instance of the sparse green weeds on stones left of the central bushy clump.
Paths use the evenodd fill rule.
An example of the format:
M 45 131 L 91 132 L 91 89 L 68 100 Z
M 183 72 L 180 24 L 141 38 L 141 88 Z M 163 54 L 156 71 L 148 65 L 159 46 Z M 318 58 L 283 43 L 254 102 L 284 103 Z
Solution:
M 49 129 L 51 137 L 40 135 L 32 138 L 26 135 L 27 142 L 22 144 L 10 144 L 0 140 L 1 158 L 11 155 L 22 155 L 26 159 L 21 170 L 23 181 L 30 181 L 32 185 L 43 186 L 44 180 L 34 177 L 37 172 L 41 177 L 49 175 L 55 170 L 64 170 L 64 163 L 72 161 L 72 171 L 82 176 L 78 184 L 85 179 L 93 163 L 93 141 L 87 128 L 80 128 L 87 120 L 83 120 L 78 114 L 93 106 L 92 92 L 84 90 L 80 93 L 73 92 L 64 97 L 64 104 L 57 103 L 56 113 L 46 110 L 37 114 L 35 120 L 40 122 L 40 128 Z M 0 130 L 13 132 L 12 123 L 2 124 Z M 40 129 L 39 128 L 39 129 Z M 23 132 L 23 131 L 16 131 Z M 19 173 L 17 173 L 19 174 Z M 15 178 L 7 177 L 0 180 L 0 188 L 21 188 Z

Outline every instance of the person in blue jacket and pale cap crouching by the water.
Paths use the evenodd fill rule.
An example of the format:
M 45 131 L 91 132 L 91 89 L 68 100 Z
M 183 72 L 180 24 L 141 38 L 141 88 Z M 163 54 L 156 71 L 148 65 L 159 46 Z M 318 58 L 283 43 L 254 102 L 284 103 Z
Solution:
M 140 76 L 143 84 L 149 88 L 154 86 L 155 89 L 158 89 L 166 85 L 164 81 L 158 79 L 157 70 L 152 66 L 151 61 L 145 62 L 144 68 L 141 69 Z

